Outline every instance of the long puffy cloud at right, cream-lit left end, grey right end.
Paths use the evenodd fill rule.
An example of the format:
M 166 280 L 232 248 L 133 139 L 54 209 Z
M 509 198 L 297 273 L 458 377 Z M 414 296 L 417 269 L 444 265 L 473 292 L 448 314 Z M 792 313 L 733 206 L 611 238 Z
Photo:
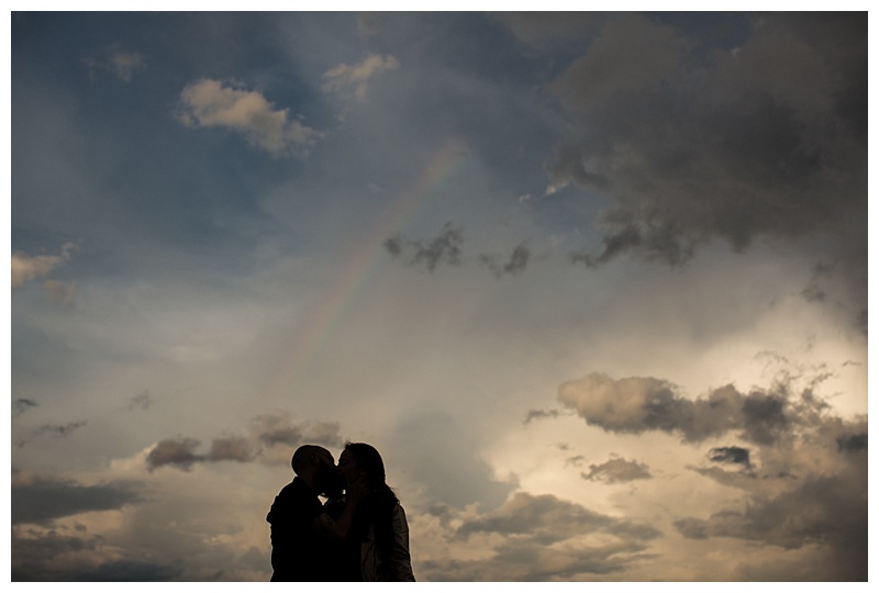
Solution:
M 811 392 L 804 392 L 802 405 L 821 405 L 810 398 Z M 604 430 L 661 430 L 679 434 L 685 441 L 738 430 L 743 439 L 770 444 L 790 429 L 794 413 L 783 389 L 744 394 L 726 385 L 693 401 L 679 396 L 668 381 L 641 377 L 617 381 L 602 373 L 564 383 L 558 399 L 587 424 Z

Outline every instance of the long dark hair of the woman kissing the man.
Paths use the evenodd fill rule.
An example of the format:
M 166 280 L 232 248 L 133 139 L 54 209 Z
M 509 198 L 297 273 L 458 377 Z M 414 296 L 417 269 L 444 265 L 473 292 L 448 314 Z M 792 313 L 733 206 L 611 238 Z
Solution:
M 400 501 L 393 490 L 385 483 L 385 462 L 375 447 L 366 443 L 346 443 L 345 450 L 354 457 L 357 467 L 366 471 L 370 491 L 357 505 L 352 530 L 360 538 L 369 529 L 370 524 L 375 525 L 376 544 L 383 552 L 382 556 L 388 558 L 393 545 L 391 514 Z

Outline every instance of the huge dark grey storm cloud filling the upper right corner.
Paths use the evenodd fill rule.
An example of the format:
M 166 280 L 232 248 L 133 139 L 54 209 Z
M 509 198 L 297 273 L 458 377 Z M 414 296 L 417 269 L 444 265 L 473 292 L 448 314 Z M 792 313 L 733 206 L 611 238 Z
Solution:
M 702 20 L 719 18 L 737 35 L 634 13 L 583 26 L 588 48 L 550 86 L 572 132 L 546 169 L 553 187 L 613 203 L 598 220 L 601 246 L 571 259 L 677 265 L 714 238 L 743 250 L 761 236 L 825 234 L 832 257 L 853 262 L 841 279 L 850 304 L 866 306 L 866 13 Z M 563 37 L 572 22 L 557 25 Z M 804 295 L 826 298 L 816 286 Z

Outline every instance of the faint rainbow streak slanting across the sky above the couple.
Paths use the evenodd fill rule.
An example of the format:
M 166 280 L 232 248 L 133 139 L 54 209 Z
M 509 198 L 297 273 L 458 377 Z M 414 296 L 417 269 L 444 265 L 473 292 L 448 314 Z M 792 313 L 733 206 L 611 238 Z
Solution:
M 286 395 L 299 372 L 322 351 L 327 338 L 358 301 L 358 295 L 377 276 L 387 260 L 385 240 L 399 232 L 419 206 L 430 202 L 468 163 L 466 146 L 456 139 L 445 139 L 419 175 L 391 199 L 376 222 L 355 243 L 335 281 L 321 296 L 320 304 L 307 315 L 305 325 L 297 331 L 283 368 L 270 390 L 272 395 Z

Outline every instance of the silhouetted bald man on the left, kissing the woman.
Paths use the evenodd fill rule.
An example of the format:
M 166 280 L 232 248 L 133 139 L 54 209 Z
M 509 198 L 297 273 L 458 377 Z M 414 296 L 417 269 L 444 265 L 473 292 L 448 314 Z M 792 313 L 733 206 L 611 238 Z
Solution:
M 337 548 L 351 528 L 363 490 L 359 484 L 349 489 L 345 507 L 334 521 L 318 499 L 340 488 L 333 455 L 316 445 L 302 445 L 290 465 L 296 477 L 275 496 L 266 515 L 271 525 L 271 580 L 335 580 Z

